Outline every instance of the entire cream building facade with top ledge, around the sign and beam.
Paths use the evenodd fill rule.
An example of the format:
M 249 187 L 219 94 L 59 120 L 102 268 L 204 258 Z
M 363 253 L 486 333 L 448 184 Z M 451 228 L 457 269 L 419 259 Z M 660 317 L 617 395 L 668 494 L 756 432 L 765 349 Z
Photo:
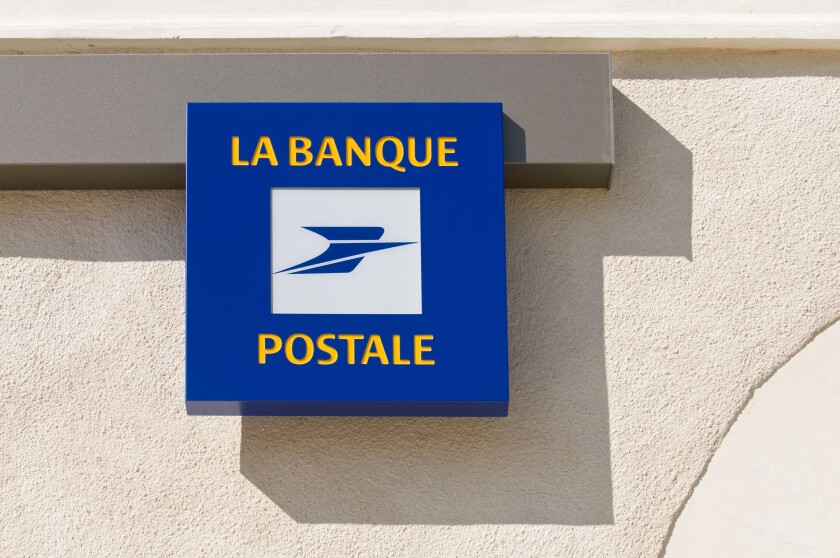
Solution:
M 506 193 L 509 416 L 187 416 L 184 192 L 12 186 L 0 554 L 840 553 L 832 2 L 247 4 L 4 2 L 0 50 L 612 51 L 610 188 Z

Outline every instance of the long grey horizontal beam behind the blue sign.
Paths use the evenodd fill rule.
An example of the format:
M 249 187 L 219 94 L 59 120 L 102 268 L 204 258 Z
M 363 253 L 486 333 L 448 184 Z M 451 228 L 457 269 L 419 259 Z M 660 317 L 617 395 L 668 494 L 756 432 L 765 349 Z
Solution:
M 608 54 L 0 56 L 0 188 L 182 188 L 188 101 L 500 101 L 506 186 L 614 163 Z

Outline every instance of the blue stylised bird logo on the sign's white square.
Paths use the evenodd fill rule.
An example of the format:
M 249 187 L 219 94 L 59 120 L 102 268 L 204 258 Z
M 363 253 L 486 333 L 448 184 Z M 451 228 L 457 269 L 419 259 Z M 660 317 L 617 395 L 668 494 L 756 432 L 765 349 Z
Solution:
M 278 273 L 350 273 L 365 255 L 416 242 L 381 242 L 382 227 L 303 227 L 325 238 L 330 245 L 310 260 L 275 271 Z

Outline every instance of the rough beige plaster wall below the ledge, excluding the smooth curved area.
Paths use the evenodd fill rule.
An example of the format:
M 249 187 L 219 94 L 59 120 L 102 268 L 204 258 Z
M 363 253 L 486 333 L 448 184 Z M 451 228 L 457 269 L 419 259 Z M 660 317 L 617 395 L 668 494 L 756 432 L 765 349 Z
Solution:
M 840 317 L 838 76 L 616 55 L 613 189 L 508 193 L 501 420 L 187 417 L 183 193 L 0 193 L 0 555 L 659 555 Z

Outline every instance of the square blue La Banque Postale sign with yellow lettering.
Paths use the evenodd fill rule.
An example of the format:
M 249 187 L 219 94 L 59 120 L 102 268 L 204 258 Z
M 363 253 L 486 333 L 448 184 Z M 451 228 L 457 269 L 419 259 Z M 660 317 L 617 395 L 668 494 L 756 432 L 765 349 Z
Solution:
M 498 103 L 187 106 L 189 414 L 505 416 Z

